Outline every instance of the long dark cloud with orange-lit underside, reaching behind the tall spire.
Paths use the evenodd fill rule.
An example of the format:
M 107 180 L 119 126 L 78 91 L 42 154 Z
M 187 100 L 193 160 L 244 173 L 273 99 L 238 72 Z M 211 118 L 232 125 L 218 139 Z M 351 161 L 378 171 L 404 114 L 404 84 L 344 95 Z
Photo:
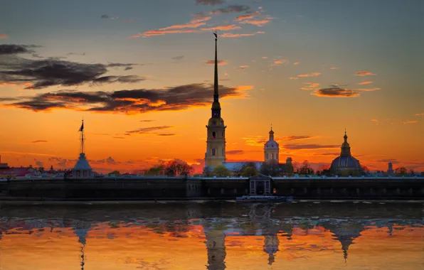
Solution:
M 243 98 L 246 96 L 245 91 L 251 89 L 251 86 L 220 86 L 219 91 L 221 97 Z M 115 92 L 62 90 L 31 97 L 16 97 L 18 100 L 3 106 L 33 111 L 67 108 L 78 111 L 134 114 L 203 107 L 211 104 L 212 94 L 213 85 L 210 84 L 191 84 L 165 89 L 120 90 Z

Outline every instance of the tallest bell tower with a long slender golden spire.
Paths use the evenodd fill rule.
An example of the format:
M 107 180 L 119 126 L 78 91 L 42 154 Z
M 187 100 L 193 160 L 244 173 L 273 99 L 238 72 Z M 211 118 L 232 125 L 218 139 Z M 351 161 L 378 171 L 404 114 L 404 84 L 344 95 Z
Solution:
M 212 117 L 208 121 L 206 129 L 206 153 L 205 167 L 222 165 L 226 162 L 226 127 L 224 120 L 221 118 L 221 104 L 219 104 L 218 93 L 218 35 L 215 35 L 215 77 L 213 80 L 213 103 Z

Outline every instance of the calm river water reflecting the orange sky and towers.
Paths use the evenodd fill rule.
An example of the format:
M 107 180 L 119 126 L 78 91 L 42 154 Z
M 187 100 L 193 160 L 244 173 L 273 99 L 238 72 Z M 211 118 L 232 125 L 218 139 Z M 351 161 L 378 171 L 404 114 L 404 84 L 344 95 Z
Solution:
M 0 207 L 0 269 L 424 269 L 423 203 Z

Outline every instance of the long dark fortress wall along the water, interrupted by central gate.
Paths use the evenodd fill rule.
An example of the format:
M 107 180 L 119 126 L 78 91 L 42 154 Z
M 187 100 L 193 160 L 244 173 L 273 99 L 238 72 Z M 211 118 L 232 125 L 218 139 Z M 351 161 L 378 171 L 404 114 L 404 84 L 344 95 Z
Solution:
M 0 199 L 152 200 L 235 199 L 246 195 L 249 178 L 93 178 L 0 182 Z M 275 195 L 295 199 L 424 199 L 424 178 L 274 178 Z

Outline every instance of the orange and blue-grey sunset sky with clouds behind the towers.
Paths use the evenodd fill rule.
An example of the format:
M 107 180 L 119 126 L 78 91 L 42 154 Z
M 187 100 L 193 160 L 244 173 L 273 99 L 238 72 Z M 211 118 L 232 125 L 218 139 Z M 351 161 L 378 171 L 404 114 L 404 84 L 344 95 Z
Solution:
M 0 11 L 1 162 L 72 168 L 84 119 L 95 171 L 202 168 L 216 29 L 227 161 L 263 161 L 272 124 L 282 161 L 322 168 L 346 128 L 371 170 L 424 171 L 422 5 L 12 1 Z

